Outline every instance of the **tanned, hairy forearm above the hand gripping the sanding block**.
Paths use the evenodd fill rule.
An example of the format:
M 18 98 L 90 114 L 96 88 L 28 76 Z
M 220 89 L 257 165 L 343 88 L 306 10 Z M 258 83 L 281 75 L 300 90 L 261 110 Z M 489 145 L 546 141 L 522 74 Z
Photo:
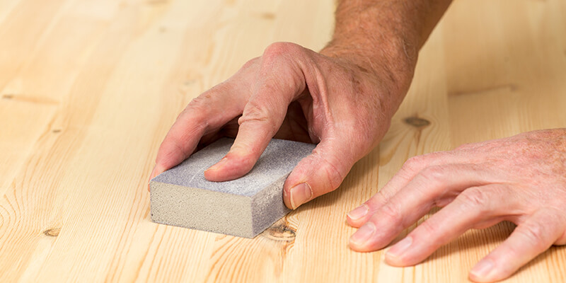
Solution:
M 321 50 L 374 72 L 386 71 L 403 100 L 417 55 L 451 0 L 340 0 L 333 39 Z M 396 106 L 393 106 L 396 110 Z

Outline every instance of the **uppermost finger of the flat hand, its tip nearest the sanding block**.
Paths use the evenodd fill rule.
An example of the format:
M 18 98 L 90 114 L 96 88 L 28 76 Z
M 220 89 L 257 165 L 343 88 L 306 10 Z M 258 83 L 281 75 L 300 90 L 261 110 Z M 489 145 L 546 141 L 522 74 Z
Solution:
M 351 226 L 359 227 L 366 223 L 379 207 L 395 195 L 400 188 L 405 187 L 422 170 L 432 166 L 441 166 L 451 163 L 467 163 L 466 158 L 458 156 L 453 151 L 440 151 L 422 156 L 409 158 L 400 168 L 399 172 L 379 190 L 376 195 L 347 214 L 347 222 Z

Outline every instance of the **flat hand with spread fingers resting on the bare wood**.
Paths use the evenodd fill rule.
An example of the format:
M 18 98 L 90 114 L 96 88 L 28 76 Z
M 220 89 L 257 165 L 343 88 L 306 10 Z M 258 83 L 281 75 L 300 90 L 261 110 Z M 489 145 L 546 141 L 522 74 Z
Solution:
M 350 225 L 362 227 L 350 247 L 379 250 L 432 207 L 444 208 L 388 250 L 389 264 L 415 265 L 468 229 L 504 220 L 516 229 L 473 267 L 470 279 L 504 279 L 553 244 L 565 245 L 566 129 L 410 158 L 374 197 L 348 214 Z

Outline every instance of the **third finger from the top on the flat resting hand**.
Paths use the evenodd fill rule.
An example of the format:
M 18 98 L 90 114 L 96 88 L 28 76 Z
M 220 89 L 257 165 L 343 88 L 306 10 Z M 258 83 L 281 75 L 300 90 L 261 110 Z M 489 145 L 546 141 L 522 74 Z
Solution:
M 386 253 L 394 266 L 415 265 L 435 250 L 485 221 L 502 221 L 504 216 L 524 214 L 528 207 L 507 185 L 490 184 L 463 190 L 456 199 L 422 222 Z

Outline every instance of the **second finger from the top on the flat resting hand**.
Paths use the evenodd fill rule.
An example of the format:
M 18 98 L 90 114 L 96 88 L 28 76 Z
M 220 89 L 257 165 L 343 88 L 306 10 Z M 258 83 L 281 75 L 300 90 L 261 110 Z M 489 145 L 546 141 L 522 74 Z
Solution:
M 473 164 L 426 168 L 376 210 L 364 224 L 369 226 L 352 235 L 350 247 L 359 251 L 383 248 L 437 203 L 454 199 L 468 187 L 496 183 L 494 180 L 489 171 Z M 379 228 L 379 233 L 369 233 L 370 228 Z

